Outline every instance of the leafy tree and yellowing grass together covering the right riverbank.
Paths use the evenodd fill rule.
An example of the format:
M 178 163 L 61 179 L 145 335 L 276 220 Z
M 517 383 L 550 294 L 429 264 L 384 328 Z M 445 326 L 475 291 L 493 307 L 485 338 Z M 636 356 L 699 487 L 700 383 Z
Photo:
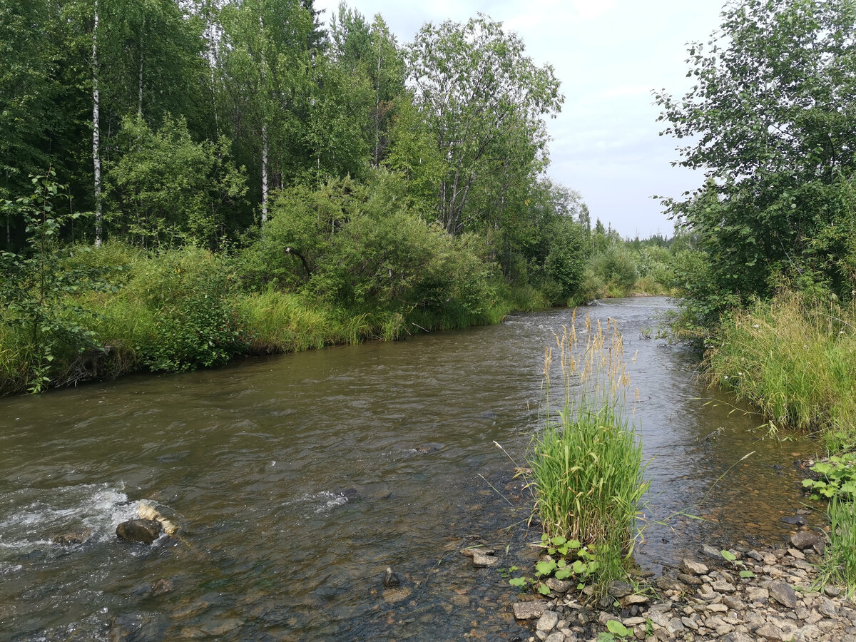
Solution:
M 741 2 L 690 45 L 693 88 L 657 95 L 678 164 L 704 184 L 664 199 L 691 241 L 675 328 L 713 383 L 778 431 L 856 449 L 856 5 Z M 850 590 L 856 513 L 829 505 L 828 577 Z M 850 552 L 847 552 L 847 551 Z M 842 575 L 838 575 L 841 571 Z

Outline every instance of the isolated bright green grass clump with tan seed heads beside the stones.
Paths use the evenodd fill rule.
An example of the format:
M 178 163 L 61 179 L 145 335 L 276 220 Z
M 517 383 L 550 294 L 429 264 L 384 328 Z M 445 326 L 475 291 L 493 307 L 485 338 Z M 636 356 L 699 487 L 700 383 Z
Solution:
M 574 314 L 575 317 L 575 314 Z M 563 398 L 550 405 L 554 351 L 547 349 L 547 418 L 533 437 L 536 509 L 548 537 L 579 540 L 595 550 L 599 579 L 622 574 L 633 552 L 639 502 L 647 489 L 642 446 L 627 411 L 630 379 L 615 321 L 603 330 L 586 318 L 586 345 L 574 325 L 556 336 Z

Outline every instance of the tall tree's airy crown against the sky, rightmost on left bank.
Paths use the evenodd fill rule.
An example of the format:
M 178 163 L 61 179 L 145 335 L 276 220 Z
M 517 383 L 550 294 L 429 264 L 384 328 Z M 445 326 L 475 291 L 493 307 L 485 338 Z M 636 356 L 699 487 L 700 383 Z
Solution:
M 542 117 L 564 98 L 553 69 L 536 67 L 524 51 L 515 33 L 484 15 L 427 23 L 407 48 L 414 102 L 443 163 L 437 219 L 452 234 L 501 220 L 503 201 L 543 167 Z

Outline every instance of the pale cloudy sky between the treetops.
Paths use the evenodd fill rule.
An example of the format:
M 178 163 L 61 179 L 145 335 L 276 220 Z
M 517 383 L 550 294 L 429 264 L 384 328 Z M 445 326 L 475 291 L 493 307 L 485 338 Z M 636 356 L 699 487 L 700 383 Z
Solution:
M 660 136 L 652 91 L 681 96 L 690 87 L 687 43 L 707 42 L 725 0 L 350 0 L 369 21 L 383 16 L 399 45 L 425 22 L 466 22 L 476 14 L 520 35 L 526 55 L 552 65 L 565 104 L 547 127 L 553 181 L 582 194 L 597 218 L 622 236 L 671 235 L 653 195 L 680 197 L 704 182 L 672 167 L 678 141 Z M 315 0 L 336 13 L 339 0 Z

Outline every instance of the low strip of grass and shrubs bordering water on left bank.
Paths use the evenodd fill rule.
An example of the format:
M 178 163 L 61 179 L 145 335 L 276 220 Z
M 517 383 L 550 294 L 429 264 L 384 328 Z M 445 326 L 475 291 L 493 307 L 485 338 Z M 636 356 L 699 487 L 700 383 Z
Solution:
M 397 293 L 402 300 L 379 304 L 260 282 L 258 256 L 248 252 L 151 253 L 123 243 L 66 249 L 42 269 L 51 288 L 27 283 L 15 305 L 0 309 L 0 394 L 219 366 L 245 354 L 399 340 L 495 324 L 513 310 L 549 304 L 535 288 L 512 288 L 488 264 L 444 278 L 426 273 L 431 282 L 411 279 L 413 288 Z M 478 257 L 446 256 L 443 267 L 453 259 Z

